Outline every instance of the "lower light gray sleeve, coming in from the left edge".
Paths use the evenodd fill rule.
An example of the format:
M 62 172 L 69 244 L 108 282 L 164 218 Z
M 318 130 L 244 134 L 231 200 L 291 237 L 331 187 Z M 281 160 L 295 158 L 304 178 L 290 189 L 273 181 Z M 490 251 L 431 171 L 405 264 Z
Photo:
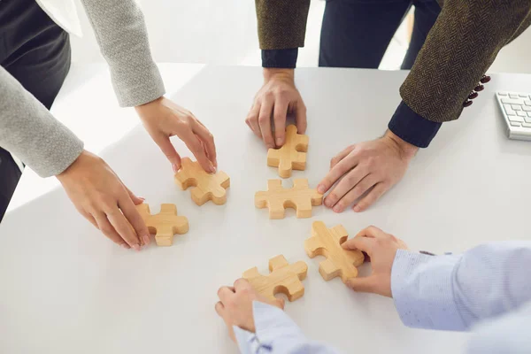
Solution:
M 0 66 L 0 146 L 41 177 L 62 173 L 83 142 Z

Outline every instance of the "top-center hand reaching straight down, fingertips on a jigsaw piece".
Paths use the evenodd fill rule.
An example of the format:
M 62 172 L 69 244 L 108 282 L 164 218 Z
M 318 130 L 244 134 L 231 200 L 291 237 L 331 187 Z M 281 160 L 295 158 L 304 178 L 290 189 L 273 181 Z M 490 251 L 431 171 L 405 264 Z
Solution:
M 306 131 L 306 106 L 295 87 L 293 69 L 264 69 L 264 86 L 255 96 L 245 123 L 268 148 L 281 147 L 286 137 L 286 117 L 295 113 L 299 134 Z M 271 127 L 271 117 L 274 122 Z

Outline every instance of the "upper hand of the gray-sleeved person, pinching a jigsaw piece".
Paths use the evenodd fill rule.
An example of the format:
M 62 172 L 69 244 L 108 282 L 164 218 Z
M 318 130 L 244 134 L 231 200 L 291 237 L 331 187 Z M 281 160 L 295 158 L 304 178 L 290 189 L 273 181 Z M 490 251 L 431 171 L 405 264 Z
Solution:
M 216 172 L 218 161 L 214 137 L 191 112 L 164 96 L 149 104 L 136 106 L 135 110 L 153 141 L 172 164 L 174 173 L 181 168 L 181 156 L 170 141 L 173 135 L 188 146 L 204 171 Z

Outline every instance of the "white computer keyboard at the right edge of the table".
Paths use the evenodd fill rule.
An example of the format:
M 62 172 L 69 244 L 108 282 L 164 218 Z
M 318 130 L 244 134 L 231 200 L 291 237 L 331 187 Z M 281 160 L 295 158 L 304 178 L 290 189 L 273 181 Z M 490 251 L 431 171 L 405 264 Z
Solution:
M 531 140 L 531 94 L 496 92 L 509 139 Z

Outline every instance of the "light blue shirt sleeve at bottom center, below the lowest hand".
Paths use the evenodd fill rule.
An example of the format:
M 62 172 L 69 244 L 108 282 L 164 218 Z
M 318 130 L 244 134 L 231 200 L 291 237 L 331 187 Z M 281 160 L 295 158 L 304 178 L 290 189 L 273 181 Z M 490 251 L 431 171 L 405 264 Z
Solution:
M 256 334 L 234 327 L 242 354 L 339 354 L 332 347 L 306 339 L 293 319 L 278 307 L 253 303 Z

